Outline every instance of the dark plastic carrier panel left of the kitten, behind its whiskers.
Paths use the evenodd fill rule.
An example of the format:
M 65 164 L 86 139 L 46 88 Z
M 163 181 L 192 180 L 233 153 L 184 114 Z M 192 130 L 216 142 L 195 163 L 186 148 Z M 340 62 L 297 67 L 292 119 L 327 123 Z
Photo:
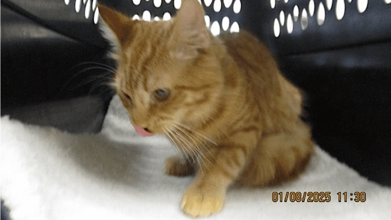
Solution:
M 86 66 L 79 65 L 109 62 L 104 59 L 106 50 L 64 36 L 4 5 L 1 15 L 2 115 L 17 106 L 88 95 L 94 85 L 88 81 L 99 80 L 105 72 L 81 72 Z

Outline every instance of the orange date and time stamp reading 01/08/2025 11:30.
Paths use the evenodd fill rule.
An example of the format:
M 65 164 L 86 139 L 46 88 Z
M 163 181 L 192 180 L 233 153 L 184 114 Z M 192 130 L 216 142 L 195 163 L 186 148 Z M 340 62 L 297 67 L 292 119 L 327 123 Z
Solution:
M 348 196 L 347 192 L 338 192 L 338 202 L 365 202 L 366 193 L 365 192 L 354 192 L 350 193 Z M 349 197 L 349 199 L 348 199 Z M 273 192 L 272 193 L 273 202 L 330 202 L 331 201 L 331 192 L 286 192 L 283 196 L 282 192 Z

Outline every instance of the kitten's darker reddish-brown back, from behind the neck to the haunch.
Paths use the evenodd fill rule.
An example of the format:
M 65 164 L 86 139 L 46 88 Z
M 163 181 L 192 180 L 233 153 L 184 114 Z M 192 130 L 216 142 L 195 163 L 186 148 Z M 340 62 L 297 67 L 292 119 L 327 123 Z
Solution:
M 263 115 L 264 132 L 290 131 L 302 111 L 303 93 L 282 76 L 272 53 L 247 31 L 219 36 L 227 52 L 245 70 L 248 93 Z

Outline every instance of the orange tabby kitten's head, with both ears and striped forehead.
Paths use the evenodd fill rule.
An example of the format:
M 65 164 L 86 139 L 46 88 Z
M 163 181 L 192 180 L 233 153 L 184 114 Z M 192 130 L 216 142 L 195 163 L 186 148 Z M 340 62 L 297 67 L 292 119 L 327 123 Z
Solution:
M 115 88 L 133 125 L 165 133 L 206 123 L 223 79 L 216 40 L 197 0 L 184 0 L 170 21 L 131 20 L 103 6 L 99 12 L 114 35 Z

